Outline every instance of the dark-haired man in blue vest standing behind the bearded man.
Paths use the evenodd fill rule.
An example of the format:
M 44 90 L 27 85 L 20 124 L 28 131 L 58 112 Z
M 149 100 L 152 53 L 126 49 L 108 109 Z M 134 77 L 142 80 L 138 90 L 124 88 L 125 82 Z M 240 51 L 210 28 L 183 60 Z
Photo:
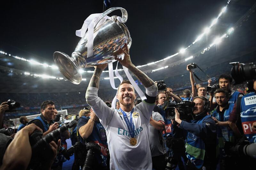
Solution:
M 235 90 L 231 90 L 231 83 L 233 79 L 228 74 L 221 74 L 219 78 L 220 88 L 223 88 L 229 93 L 228 103 L 235 104 L 238 97 L 242 97 L 243 93 L 237 92 Z M 210 93 L 210 111 L 212 111 L 215 107 L 217 107 L 216 99 L 213 97 L 213 93 Z

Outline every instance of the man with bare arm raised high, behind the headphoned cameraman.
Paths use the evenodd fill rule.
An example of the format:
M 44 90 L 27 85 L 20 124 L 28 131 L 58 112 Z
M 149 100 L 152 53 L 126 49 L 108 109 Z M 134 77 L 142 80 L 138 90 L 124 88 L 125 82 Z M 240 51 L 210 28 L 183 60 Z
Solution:
M 206 89 L 205 87 L 198 87 L 196 89 L 196 80 L 194 78 L 194 75 L 193 75 L 193 72 L 192 72 L 192 69 L 189 69 L 189 66 L 190 64 L 187 65 L 187 70 L 189 71 L 189 77 L 190 77 L 190 82 L 191 82 L 191 86 L 192 86 L 192 97 L 196 97 L 196 96 L 199 96 L 199 97 L 205 97 L 206 96 Z

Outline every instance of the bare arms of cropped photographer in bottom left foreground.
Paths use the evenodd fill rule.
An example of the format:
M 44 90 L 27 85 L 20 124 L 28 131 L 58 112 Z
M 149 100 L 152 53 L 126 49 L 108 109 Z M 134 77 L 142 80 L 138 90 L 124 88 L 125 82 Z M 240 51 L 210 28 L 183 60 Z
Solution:
M 30 124 L 21 129 L 9 144 L 3 158 L 3 165 L 0 167 L 1 170 L 16 170 L 26 169 L 32 155 L 32 149 L 29 143 L 29 136 L 35 131 L 42 131 L 35 124 Z M 50 143 L 52 152 L 48 155 L 47 162 L 44 162 L 42 169 L 51 169 L 51 165 L 57 155 L 57 149 L 60 147 L 60 140 L 58 145 L 55 142 Z M 39 153 L 42 154 L 42 153 Z

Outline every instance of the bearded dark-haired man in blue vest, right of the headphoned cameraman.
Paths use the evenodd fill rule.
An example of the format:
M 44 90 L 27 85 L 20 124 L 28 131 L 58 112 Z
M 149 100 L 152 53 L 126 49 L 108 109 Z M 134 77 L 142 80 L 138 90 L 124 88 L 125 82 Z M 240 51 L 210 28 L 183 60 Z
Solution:
M 212 114 L 212 118 L 217 125 L 217 135 L 220 144 L 220 167 L 221 169 L 235 168 L 234 158 L 230 158 L 224 152 L 224 144 L 226 141 L 234 143 L 233 131 L 228 126 L 228 118 L 233 109 L 233 104 L 228 103 L 229 94 L 224 89 L 217 89 L 215 99 L 218 104 L 216 110 Z

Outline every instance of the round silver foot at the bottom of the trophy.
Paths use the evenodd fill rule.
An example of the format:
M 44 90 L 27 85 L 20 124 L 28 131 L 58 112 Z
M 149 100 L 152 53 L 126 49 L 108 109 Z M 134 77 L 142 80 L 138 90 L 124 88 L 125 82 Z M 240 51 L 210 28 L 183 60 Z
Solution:
M 53 54 L 53 59 L 62 75 L 76 85 L 81 83 L 82 75 L 71 57 L 63 52 L 56 51 Z

